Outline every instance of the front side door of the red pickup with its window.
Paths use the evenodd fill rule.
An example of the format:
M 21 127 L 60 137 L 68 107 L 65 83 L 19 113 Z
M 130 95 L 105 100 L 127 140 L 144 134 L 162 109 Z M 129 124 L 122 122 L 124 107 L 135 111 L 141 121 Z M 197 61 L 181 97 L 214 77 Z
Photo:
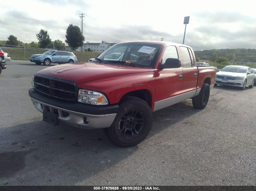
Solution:
M 176 46 L 166 47 L 161 63 L 165 63 L 168 58 L 179 58 Z M 165 68 L 156 72 L 154 111 L 174 104 L 179 94 L 182 94 L 182 74 L 181 67 Z

